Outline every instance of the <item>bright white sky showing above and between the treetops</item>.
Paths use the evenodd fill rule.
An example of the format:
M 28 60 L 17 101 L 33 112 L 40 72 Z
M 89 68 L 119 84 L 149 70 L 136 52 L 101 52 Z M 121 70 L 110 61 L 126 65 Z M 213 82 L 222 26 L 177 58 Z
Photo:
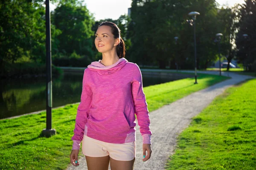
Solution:
M 244 0 L 216 0 L 217 3 L 233 6 L 236 3 L 244 3 Z M 93 14 L 95 20 L 111 18 L 116 20 L 120 15 L 127 14 L 131 7 L 131 0 L 84 0 L 87 9 Z M 50 5 L 51 10 L 55 6 Z

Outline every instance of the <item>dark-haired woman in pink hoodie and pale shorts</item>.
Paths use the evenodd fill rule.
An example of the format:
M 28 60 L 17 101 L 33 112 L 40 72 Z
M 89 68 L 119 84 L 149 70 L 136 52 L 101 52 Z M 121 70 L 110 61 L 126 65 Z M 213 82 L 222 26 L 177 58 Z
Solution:
M 137 115 L 143 136 L 143 161 L 151 156 L 151 131 L 142 77 L 137 64 L 125 59 L 120 29 L 101 23 L 95 45 L 102 60 L 84 70 L 81 102 L 77 109 L 70 162 L 79 166 L 80 143 L 88 170 L 133 170 L 136 156 Z M 147 155 L 146 155 L 147 151 Z

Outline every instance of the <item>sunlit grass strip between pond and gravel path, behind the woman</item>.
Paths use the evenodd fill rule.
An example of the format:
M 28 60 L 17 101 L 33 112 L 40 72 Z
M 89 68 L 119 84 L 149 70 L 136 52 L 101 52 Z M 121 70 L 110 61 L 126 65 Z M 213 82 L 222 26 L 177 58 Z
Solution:
M 180 79 L 144 88 L 151 112 L 195 91 L 207 88 L 228 77 L 198 74 L 194 78 Z M 0 170 L 64 170 L 70 164 L 71 137 L 75 126 L 78 104 L 52 110 L 52 128 L 57 135 L 41 136 L 46 127 L 46 112 L 0 120 Z M 80 149 L 79 156 L 83 156 Z

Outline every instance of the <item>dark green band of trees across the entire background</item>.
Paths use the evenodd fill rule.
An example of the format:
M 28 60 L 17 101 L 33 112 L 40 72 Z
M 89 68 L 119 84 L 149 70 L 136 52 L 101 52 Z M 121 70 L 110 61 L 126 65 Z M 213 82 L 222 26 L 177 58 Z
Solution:
M 46 62 L 43 2 L 6 0 L 0 4 L 1 66 L 14 62 Z M 186 20 L 191 19 L 190 11 L 198 11 L 201 15 L 196 20 L 197 68 L 206 69 L 217 59 L 218 46 L 214 39 L 218 32 L 224 35 L 222 56 L 231 62 L 237 52 L 240 63 L 246 62 L 248 70 L 255 68 L 255 0 L 246 0 L 241 8 L 220 7 L 215 0 L 133 0 L 131 17 L 121 15 L 117 20 L 96 22 L 82 5 L 83 1 L 52 2 L 58 2 L 51 13 L 52 60 L 57 64 L 58 59 L 60 66 L 62 63 L 63 66 L 87 66 L 91 61 L 101 59 L 94 45 L 94 33 L 99 24 L 107 20 L 121 29 L 126 57 L 131 62 L 160 68 L 176 68 L 177 65 L 180 69 L 192 69 L 195 66 L 194 29 Z M 237 34 L 236 30 L 239 30 Z M 250 38 L 244 41 L 242 34 L 248 34 Z M 179 37 L 177 44 L 176 36 Z M 76 57 L 70 56 L 76 54 Z M 69 59 L 73 59 L 72 64 L 68 64 Z M 79 62 L 82 64 L 76 65 Z

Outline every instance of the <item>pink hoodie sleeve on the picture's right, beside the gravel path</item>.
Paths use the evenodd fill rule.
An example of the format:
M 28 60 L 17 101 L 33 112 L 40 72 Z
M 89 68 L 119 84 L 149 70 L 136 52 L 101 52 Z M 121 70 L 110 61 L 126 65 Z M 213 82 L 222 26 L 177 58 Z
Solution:
M 134 65 L 133 82 L 131 84 L 132 96 L 134 100 L 135 114 L 140 126 L 140 133 L 143 138 L 143 144 L 151 144 L 151 135 L 149 125 L 148 104 L 143 92 L 142 75 L 137 64 Z

